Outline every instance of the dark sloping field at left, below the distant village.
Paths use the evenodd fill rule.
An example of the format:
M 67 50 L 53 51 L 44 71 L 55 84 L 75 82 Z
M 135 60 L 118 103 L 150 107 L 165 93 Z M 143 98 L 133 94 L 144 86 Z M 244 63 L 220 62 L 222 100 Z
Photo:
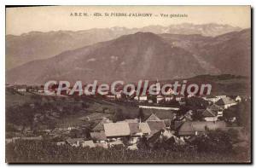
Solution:
M 35 107 L 30 107 L 32 104 Z M 29 120 L 29 123 L 24 124 L 33 125 L 34 116 L 40 113 L 44 116 L 44 120 L 38 125 L 47 126 L 54 122 L 55 127 L 60 128 L 86 125 L 89 122 L 97 123 L 102 118 L 134 119 L 138 115 L 137 107 L 104 101 L 100 98 L 35 96 L 31 93 L 19 94 L 10 90 L 6 90 L 6 109 L 9 124 L 16 125 L 18 120 Z M 45 115 L 49 115 L 49 112 L 58 113 L 60 117 L 46 120 Z

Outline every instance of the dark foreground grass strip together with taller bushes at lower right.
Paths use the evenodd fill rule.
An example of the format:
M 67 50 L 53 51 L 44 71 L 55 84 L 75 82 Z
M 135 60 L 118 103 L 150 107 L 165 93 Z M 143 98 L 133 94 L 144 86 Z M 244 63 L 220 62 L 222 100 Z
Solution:
M 250 150 L 232 148 L 233 133 L 210 132 L 198 136 L 194 142 L 177 145 L 161 142 L 148 148 L 140 142 L 139 150 L 114 148 L 75 148 L 57 146 L 49 141 L 17 141 L 6 145 L 8 163 L 245 163 L 250 161 Z

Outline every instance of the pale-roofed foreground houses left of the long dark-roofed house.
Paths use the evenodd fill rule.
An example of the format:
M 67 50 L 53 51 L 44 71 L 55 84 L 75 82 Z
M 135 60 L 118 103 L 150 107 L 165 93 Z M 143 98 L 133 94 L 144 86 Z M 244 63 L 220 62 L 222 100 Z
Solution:
M 167 125 L 166 125 L 167 123 Z M 170 122 L 171 123 L 171 120 Z M 150 115 L 148 119 L 141 122 L 139 119 L 125 119 L 113 123 L 112 120 L 103 118 L 91 131 L 91 140 L 84 141 L 83 139 L 67 139 L 67 143 L 72 146 L 88 146 L 90 148 L 100 146 L 103 148 L 110 148 L 115 145 L 128 145 L 130 149 L 137 149 L 137 142 L 143 137 L 154 135 L 160 130 L 165 130 L 168 121 L 157 118 L 154 114 Z

